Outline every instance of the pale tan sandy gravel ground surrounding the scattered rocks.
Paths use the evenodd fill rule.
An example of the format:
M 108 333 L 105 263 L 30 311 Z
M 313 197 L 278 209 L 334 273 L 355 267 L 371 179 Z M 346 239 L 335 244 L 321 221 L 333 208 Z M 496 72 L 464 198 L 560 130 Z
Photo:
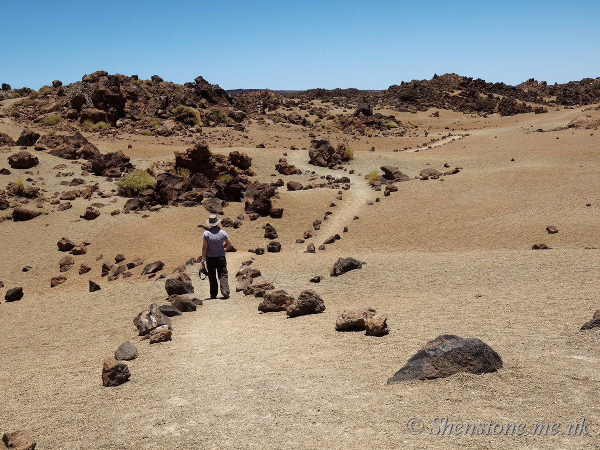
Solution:
M 351 139 L 321 130 L 334 145 L 346 139 L 355 149 L 347 166 L 355 173 L 343 173 L 352 181 L 343 200 L 335 200 L 337 190 L 281 188 L 275 205 L 284 208 L 283 218 L 246 219 L 241 228 L 227 229 L 238 248 L 228 254 L 230 279 L 253 256 L 248 249 L 266 246 L 261 226 L 269 222 L 283 248 L 256 256 L 253 266 L 290 295 L 315 289 L 325 301 L 322 314 L 295 319 L 259 314 L 260 299 L 234 292 L 175 317 L 173 340 L 150 346 L 137 337 L 132 319 L 152 302 L 163 304 L 164 280 L 140 277 L 140 266 L 133 277 L 109 282 L 101 278 L 102 260 L 96 257 L 123 253 L 127 260 L 162 260 L 170 274 L 201 253 L 203 230 L 197 225 L 208 215 L 202 206 L 163 208 L 147 218 L 111 216 L 126 199 L 115 196 L 112 204 L 94 197 L 76 199 L 64 212 L 44 203 L 47 215 L 1 223 L 0 280 L 5 290 L 23 286 L 25 296 L 0 304 L 0 432 L 20 428 L 37 440 L 38 449 L 599 448 L 600 329 L 579 329 L 600 308 L 600 250 L 584 250 L 600 247 L 600 131 L 531 132 L 564 127 L 585 114 L 580 109 L 505 118 L 445 110 L 431 118 L 431 112 L 395 113 L 404 124 L 419 125 L 409 133 L 416 136 Z M 428 140 L 424 130 L 429 137 L 469 136 L 415 152 Z M 22 127 L 4 118 L 0 131 L 16 139 Z M 291 145 L 308 148 L 309 131 L 252 124 L 245 133 L 207 129 L 202 139 L 214 152 L 247 152 L 262 181 L 280 178 L 271 173 L 283 152 L 302 170 L 341 176 L 341 171 L 310 166 L 307 151 L 290 150 Z M 144 169 L 153 161 L 172 160 L 173 151 L 189 148 L 197 137 L 89 134 L 88 139 L 102 152 L 122 149 Z M 266 149 L 255 148 L 261 142 Z M 412 149 L 394 152 L 405 146 Z M 14 151 L 0 150 L 0 167 L 8 167 L 5 158 Z M 65 161 L 34 153 L 40 164 L 31 178 L 38 187 L 48 196 L 67 190 L 53 169 Z M 383 164 L 415 176 L 426 167 L 443 169 L 444 163 L 463 170 L 443 181 L 400 183 L 389 197 L 364 180 L 365 173 Z M 73 164 L 74 176 L 80 175 L 78 169 Z M 0 175 L 2 188 L 28 176 L 23 170 L 11 172 Z M 305 184 L 309 176 L 283 178 Z M 92 178 L 103 191 L 116 187 Z M 367 205 L 376 197 L 380 202 Z M 337 206 L 330 208 L 333 200 Z M 106 204 L 100 217 L 79 220 L 95 202 Z M 333 214 L 306 244 L 318 247 L 335 233 L 341 240 L 317 254 L 304 253 L 306 244 L 295 240 L 326 211 Z M 243 206 L 232 203 L 225 215 L 241 212 Z M 559 233 L 548 235 L 548 225 Z M 75 257 L 66 283 L 50 289 L 64 256 L 56 247 L 63 236 L 88 239 L 90 250 Z M 551 249 L 532 251 L 538 242 Z M 329 275 L 338 257 L 349 256 L 366 265 L 326 276 L 320 284 L 308 282 L 314 275 Z M 92 271 L 78 275 L 80 262 L 91 263 Z M 25 265 L 31 271 L 22 272 Z M 206 298 L 208 281 L 200 281 L 197 269 L 188 272 L 196 296 Z M 88 280 L 102 289 L 89 293 Z M 336 332 L 337 315 L 350 306 L 387 314 L 389 335 Z M 445 333 L 490 344 L 503 369 L 386 384 L 427 341 Z M 127 340 L 140 353 L 127 362 L 131 380 L 104 388 L 103 359 Z M 430 428 L 435 431 L 431 421 L 436 417 L 454 423 L 524 422 L 526 431 L 534 422 L 561 427 L 554 436 L 428 434 Z M 582 417 L 588 434 L 567 436 L 566 424 Z M 423 433 L 409 433 L 411 418 L 425 422 Z

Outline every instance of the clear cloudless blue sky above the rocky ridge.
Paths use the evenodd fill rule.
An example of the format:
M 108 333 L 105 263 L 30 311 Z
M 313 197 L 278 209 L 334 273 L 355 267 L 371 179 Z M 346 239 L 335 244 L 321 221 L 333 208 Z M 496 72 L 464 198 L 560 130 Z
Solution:
M 4 0 L 0 16 L 0 83 L 13 88 L 96 70 L 302 90 L 600 76 L 596 0 Z

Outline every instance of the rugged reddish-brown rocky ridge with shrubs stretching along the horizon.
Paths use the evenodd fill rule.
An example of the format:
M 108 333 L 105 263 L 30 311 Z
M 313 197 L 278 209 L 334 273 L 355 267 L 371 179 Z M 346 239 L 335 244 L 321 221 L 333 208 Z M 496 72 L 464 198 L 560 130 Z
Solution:
M 311 126 L 296 116 L 290 119 L 283 108 L 299 107 L 319 118 L 329 112 L 314 100 L 355 108 L 359 104 L 386 107 L 398 112 L 427 111 L 430 108 L 487 115 L 547 112 L 552 107 L 574 107 L 600 101 L 600 78 L 586 78 L 562 85 L 529 79 L 517 86 L 487 83 L 485 80 L 454 73 L 431 80 L 412 80 L 389 86 L 383 91 L 349 89 L 308 89 L 271 91 L 270 89 L 232 89 L 225 91 L 203 77 L 178 85 L 154 75 L 140 80 L 136 75 L 96 71 L 82 81 L 63 86 L 59 80 L 34 91 L 13 89 L 2 83 L 0 101 L 19 98 L 8 110 L 25 126 L 52 127 L 64 131 L 101 131 L 120 129 L 127 133 L 169 135 L 175 131 L 198 131 L 200 127 L 229 126 L 243 130 L 248 118 L 260 120 L 269 112 L 274 121 Z M 532 106 L 533 104 L 533 106 Z M 364 115 L 358 115 L 358 119 Z M 389 116 L 388 119 L 394 119 Z M 361 119 L 362 120 L 362 119 Z M 352 120 L 339 119 L 344 130 Z M 381 122 L 365 121 L 376 126 Z M 373 125 L 374 124 L 374 125 Z

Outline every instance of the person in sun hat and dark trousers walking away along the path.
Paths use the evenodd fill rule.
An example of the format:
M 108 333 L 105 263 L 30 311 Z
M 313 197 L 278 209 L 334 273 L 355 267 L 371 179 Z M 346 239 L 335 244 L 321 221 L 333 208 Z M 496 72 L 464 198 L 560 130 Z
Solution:
M 215 214 L 209 215 L 206 225 L 211 227 L 211 229 L 202 233 L 203 244 L 201 262 L 205 262 L 206 260 L 208 281 L 211 284 L 211 299 L 217 298 L 219 283 L 221 284 L 221 294 L 223 295 L 223 298 L 229 298 L 225 249 L 230 247 L 231 241 L 229 240 L 229 235 L 219 228 L 218 224 L 220 223 L 221 219 Z

